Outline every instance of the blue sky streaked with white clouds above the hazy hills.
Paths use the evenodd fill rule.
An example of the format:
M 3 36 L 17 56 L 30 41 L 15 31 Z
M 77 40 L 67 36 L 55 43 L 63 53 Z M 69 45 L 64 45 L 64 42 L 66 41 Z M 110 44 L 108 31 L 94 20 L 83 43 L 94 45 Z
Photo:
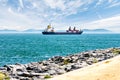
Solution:
M 0 0 L 0 30 L 69 26 L 120 32 L 120 0 Z

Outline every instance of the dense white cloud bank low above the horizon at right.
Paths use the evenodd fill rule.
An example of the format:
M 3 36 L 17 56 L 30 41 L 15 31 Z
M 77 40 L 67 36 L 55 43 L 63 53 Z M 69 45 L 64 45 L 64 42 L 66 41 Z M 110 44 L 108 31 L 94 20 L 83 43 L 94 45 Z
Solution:
M 119 32 L 120 28 L 118 28 L 118 26 L 120 26 L 120 16 L 115 16 L 115 17 L 110 17 L 110 18 L 89 22 L 89 23 L 86 23 L 85 26 L 88 29 L 106 28 L 114 32 Z M 113 30 L 114 27 L 117 27 L 117 28 Z

